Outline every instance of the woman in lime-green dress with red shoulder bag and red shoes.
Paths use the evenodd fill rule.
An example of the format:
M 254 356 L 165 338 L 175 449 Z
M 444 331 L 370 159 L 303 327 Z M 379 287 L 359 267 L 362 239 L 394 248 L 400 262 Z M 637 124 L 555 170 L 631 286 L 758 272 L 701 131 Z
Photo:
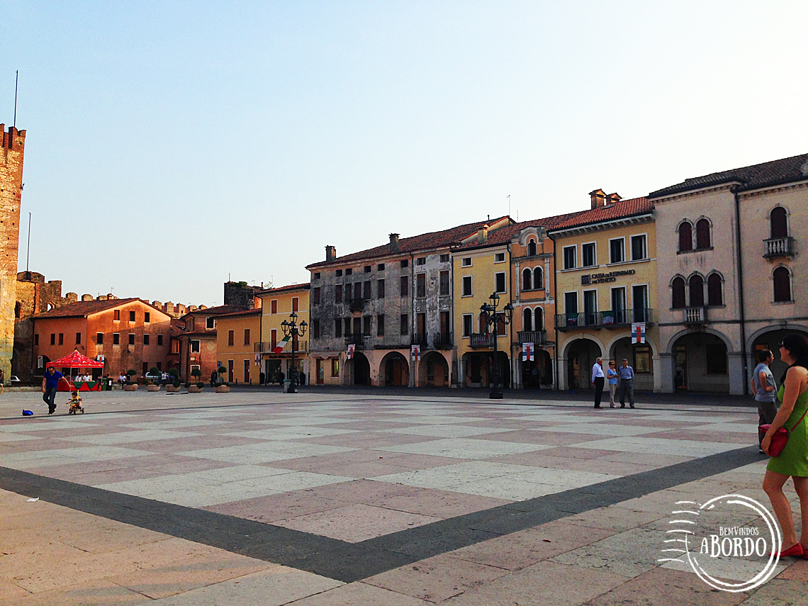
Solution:
M 768 461 L 763 490 L 772 501 L 777 521 L 783 531 L 782 556 L 795 556 L 808 559 L 808 428 L 802 419 L 808 408 L 808 339 L 803 335 L 788 335 L 780 343 L 780 358 L 789 364 L 781 379 L 777 398 L 783 403 L 777 412 L 772 426 L 766 432 L 760 448 L 768 454 L 772 435 L 780 427 L 791 430 L 789 441 L 783 451 Z M 799 421 L 799 423 L 797 423 Z M 802 511 L 802 536 L 797 541 L 794 522 L 791 517 L 791 504 L 783 494 L 786 480 L 793 478 L 794 490 L 800 498 Z

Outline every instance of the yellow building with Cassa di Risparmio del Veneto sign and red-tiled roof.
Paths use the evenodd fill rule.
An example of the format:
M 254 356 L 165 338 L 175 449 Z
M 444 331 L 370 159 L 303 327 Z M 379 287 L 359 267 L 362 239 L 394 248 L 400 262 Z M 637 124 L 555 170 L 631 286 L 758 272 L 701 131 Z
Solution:
M 555 241 L 558 388 L 591 389 L 595 360 L 629 360 L 634 389 L 660 391 L 654 207 L 591 192 L 591 210 L 549 231 Z M 645 343 L 632 343 L 633 327 Z

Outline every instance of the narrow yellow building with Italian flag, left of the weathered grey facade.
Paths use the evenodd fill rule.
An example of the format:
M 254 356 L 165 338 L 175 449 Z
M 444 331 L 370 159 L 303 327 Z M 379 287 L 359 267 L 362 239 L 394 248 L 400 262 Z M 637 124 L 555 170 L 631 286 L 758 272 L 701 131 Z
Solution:
M 282 322 L 290 321 L 292 313 L 297 314 L 298 325 L 301 322 L 306 323 L 305 335 L 298 338 L 295 343 L 294 368 L 302 373 L 305 384 L 318 381 L 317 372 L 325 378 L 328 373 L 322 364 L 322 368 L 309 369 L 309 339 L 312 336 L 316 337 L 320 330 L 317 322 L 309 320 L 309 284 L 270 288 L 258 292 L 256 297 L 261 299 L 262 314 L 261 341 L 255 345 L 255 354 L 259 356 L 264 382 L 280 383 L 289 377 L 292 369 L 292 342 L 287 343 L 280 353 L 275 353 L 274 350 L 284 339 Z M 314 370 L 315 374 L 310 375 L 310 370 Z

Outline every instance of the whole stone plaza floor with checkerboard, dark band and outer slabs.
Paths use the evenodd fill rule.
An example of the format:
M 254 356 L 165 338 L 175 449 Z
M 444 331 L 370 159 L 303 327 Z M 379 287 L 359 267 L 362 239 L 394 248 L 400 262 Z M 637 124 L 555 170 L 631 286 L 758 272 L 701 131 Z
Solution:
M 659 562 L 677 501 L 770 507 L 751 407 L 82 396 L 0 395 L 0 604 L 808 604 Z

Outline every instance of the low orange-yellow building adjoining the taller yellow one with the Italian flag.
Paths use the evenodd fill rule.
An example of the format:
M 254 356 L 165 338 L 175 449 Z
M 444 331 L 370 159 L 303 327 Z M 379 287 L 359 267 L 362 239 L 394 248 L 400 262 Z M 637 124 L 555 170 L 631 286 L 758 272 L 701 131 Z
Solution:
M 218 316 L 216 329 L 217 364 L 227 368 L 225 381 L 258 385 L 261 368 L 255 345 L 261 341 L 261 309 Z

